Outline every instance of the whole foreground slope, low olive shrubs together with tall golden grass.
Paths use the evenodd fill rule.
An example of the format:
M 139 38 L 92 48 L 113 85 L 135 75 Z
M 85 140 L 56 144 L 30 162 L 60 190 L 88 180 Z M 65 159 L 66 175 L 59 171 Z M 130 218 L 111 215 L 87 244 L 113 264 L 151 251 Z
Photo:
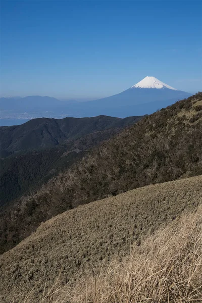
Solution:
M 137 188 L 48 220 L 0 257 L 1 301 L 23 302 L 29 294 L 30 303 L 53 302 L 53 292 L 65 286 L 69 299 L 59 302 L 125 303 L 136 296 L 168 302 L 168 295 L 171 302 L 191 302 L 201 293 L 201 217 L 174 219 L 201 202 L 197 176 Z M 58 290 L 52 288 L 57 277 Z

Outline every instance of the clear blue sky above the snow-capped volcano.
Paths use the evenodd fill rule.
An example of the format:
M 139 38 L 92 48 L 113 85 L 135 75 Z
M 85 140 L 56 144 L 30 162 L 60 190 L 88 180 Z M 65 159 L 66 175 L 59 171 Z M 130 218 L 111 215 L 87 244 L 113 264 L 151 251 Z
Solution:
M 201 88 L 201 1 L 1 1 L 1 95 Z

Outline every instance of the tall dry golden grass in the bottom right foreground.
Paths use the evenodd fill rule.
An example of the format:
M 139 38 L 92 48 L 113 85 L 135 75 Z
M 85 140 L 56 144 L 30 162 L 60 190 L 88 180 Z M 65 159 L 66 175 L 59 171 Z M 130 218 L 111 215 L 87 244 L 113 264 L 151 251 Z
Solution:
M 140 246 L 134 243 L 122 262 L 114 259 L 98 275 L 86 273 L 74 286 L 60 287 L 58 281 L 43 292 L 40 303 L 201 302 L 202 207 Z

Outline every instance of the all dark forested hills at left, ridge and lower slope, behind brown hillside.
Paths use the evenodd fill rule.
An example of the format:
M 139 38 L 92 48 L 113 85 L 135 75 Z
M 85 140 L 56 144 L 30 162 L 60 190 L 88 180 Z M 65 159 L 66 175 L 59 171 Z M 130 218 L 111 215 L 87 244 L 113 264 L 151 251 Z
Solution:
M 81 159 L 88 149 L 140 119 L 107 116 L 61 120 L 41 118 L 0 128 L 2 147 L 7 148 L 2 150 L 0 159 L 1 207 L 38 188 Z

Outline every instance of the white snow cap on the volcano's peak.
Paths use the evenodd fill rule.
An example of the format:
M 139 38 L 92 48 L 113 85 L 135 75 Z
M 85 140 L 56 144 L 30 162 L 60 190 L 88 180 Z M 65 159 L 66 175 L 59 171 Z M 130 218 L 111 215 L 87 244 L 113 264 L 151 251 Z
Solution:
M 169 86 L 168 84 L 160 81 L 159 79 L 155 77 L 148 77 L 146 76 L 144 79 L 142 79 L 137 84 L 133 85 L 131 88 L 169 88 L 172 90 L 178 90 L 174 87 Z

